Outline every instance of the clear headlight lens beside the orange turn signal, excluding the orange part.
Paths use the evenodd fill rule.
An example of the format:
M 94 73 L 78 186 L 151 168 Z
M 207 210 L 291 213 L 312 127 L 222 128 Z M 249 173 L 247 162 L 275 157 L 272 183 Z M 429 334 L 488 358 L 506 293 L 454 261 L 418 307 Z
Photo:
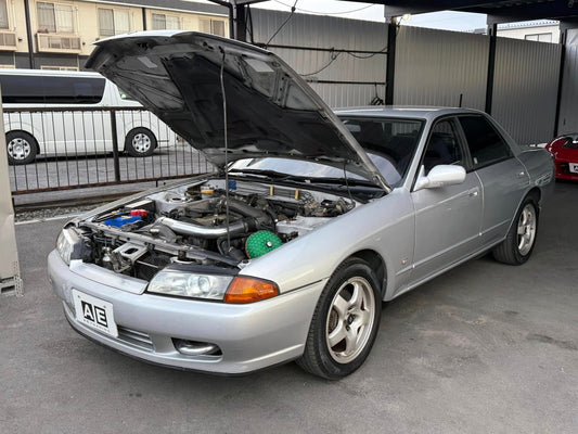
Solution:
M 191 298 L 221 301 L 233 276 L 196 275 L 182 271 L 159 271 L 149 283 L 149 292 Z

